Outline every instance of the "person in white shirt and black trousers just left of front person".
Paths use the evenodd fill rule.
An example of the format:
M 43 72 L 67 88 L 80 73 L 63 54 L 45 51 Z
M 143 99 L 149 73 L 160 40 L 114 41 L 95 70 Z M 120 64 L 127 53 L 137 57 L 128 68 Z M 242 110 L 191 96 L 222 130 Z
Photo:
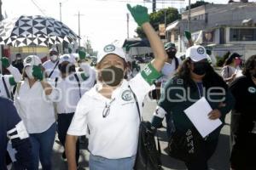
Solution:
M 63 146 L 79 99 L 85 89 L 92 88 L 95 81 L 95 75 L 91 73 L 90 65 L 83 64 L 81 68 L 83 71 L 76 72 L 75 59 L 70 54 L 61 55 L 58 65 L 61 75 L 55 78 L 54 86 L 60 91 L 59 101 L 55 105 L 58 113 L 58 137 Z M 76 161 L 79 161 L 79 142 L 76 156 Z M 66 161 L 65 152 L 62 153 L 62 159 Z

